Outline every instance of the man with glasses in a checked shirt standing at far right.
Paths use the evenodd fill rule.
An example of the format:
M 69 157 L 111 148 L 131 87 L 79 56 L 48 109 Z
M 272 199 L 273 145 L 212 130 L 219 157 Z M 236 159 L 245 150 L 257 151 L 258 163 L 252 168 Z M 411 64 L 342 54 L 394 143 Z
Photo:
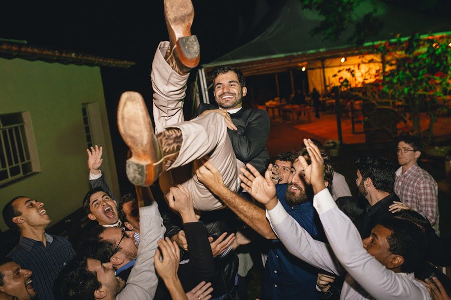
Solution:
M 437 182 L 418 166 L 421 150 L 421 140 L 416 136 L 402 136 L 398 139 L 396 151 L 400 167 L 396 171 L 394 190 L 402 203 L 424 213 L 439 235 Z

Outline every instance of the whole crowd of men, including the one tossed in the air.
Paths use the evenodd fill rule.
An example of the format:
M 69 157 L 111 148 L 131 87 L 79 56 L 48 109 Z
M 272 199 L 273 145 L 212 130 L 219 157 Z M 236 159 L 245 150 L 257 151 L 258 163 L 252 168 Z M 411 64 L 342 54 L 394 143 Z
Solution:
M 261 299 L 449 299 L 449 279 L 431 264 L 451 264 L 450 241 L 439 237 L 437 184 L 417 164 L 421 140 L 399 138 L 397 170 L 382 156 L 355 162 L 362 203 L 318 140 L 270 163 L 269 116 L 242 107 L 238 68 L 216 68 L 218 106 L 201 104 L 184 121 L 199 61 L 194 11 L 165 0 L 164 12 L 170 41 L 151 72 L 155 127 L 138 93 L 118 107 L 136 193 L 114 195 L 103 148 L 87 149 L 92 188 L 80 202 L 95 225 L 80 232 L 77 252 L 46 232 L 44 202 L 11 199 L 3 218 L 20 241 L 0 259 L 0 299 L 247 299 L 258 256 Z M 148 187 L 158 178 L 161 196 Z

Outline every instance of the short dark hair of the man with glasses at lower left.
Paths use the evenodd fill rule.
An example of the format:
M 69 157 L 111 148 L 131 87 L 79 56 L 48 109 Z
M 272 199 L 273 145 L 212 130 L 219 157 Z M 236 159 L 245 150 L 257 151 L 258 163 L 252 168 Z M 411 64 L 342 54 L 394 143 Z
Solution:
M 102 239 L 100 235 L 103 234 L 107 227 L 95 225 L 87 234 L 87 237 L 82 242 L 81 254 L 89 258 L 95 258 L 100 262 L 109 262 L 111 257 L 121 250 L 111 240 Z

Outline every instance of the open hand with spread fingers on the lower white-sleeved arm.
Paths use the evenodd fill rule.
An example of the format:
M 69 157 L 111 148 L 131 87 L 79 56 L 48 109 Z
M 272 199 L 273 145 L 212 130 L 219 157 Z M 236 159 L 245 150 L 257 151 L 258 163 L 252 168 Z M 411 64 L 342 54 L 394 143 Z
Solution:
M 257 201 L 265 204 L 265 206 L 270 203 L 275 206 L 278 200 L 276 197 L 276 184 L 274 184 L 271 178 L 273 164 L 270 163 L 268 166 L 265 177 L 263 177 L 252 164 L 247 163 L 246 166 L 250 172 L 243 167 L 241 168 L 241 171 L 243 172 L 243 174 L 239 175 L 242 180 L 241 186 Z

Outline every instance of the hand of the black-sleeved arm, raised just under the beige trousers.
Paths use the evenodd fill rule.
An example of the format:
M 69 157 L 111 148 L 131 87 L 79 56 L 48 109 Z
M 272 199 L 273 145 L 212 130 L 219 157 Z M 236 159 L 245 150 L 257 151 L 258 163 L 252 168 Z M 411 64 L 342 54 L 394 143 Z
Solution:
M 179 184 L 169 188 L 167 203 L 170 208 L 180 213 L 184 223 L 197 221 L 191 194 L 184 185 Z

